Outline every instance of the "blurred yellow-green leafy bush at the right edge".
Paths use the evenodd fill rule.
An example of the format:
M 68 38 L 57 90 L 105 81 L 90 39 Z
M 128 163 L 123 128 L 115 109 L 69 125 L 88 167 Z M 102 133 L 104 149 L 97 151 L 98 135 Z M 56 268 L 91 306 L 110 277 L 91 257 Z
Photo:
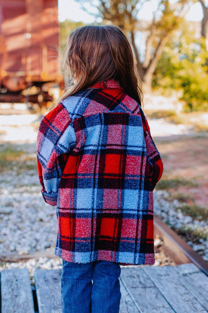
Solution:
M 183 25 L 187 29 L 188 25 Z M 182 90 L 180 100 L 186 111 L 208 108 L 208 52 L 205 39 L 195 39 L 193 32 L 181 32 L 171 38 L 157 64 L 153 87 Z

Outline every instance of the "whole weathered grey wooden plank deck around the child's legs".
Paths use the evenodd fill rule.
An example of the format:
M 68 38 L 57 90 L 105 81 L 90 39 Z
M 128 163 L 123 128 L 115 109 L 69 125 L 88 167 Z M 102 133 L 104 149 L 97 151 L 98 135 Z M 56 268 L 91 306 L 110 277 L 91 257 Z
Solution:
M 61 313 L 61 269 L 35 269 L 39 313 Z M 122 267 L 119 313 L 208 312 L 208 277 L 194 264 Z M 1 313 L 34 313 L 29 273 L 1 272 Z

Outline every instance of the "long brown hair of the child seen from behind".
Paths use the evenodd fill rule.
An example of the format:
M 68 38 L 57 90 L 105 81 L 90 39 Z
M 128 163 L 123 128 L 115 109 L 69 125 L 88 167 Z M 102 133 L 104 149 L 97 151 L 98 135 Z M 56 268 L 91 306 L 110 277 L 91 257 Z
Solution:
M 138 86 L 133 54 L 125 35 L 115 26 L 84 26 L 69 34 L 64 63 L 74 85 L 61 100 L 107 79 L 115 79 L 126 94 L 139 104 L 142 92 Z

